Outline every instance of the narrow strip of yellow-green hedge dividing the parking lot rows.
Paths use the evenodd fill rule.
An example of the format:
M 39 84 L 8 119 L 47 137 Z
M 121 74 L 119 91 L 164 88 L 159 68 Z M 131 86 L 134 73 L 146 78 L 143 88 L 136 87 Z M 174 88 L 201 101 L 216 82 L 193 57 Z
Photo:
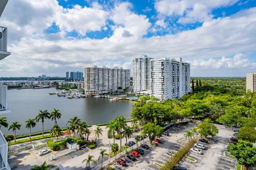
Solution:
M 187 155 L 189 150 L 193 148 L 197 139 L 192 139 L 185 146 L 180 148 L 176 154 L 174 154 L 173 159 L 167 160 L 167 162 L 161 167 L 161 170 L 170 170 L 173 166 L 178 165 L 179 162 L 182 160 L 183 157 Z M 187 158 L 186 158 L 187 159 Z M 192 161 L 192 160 L 191 160 Z

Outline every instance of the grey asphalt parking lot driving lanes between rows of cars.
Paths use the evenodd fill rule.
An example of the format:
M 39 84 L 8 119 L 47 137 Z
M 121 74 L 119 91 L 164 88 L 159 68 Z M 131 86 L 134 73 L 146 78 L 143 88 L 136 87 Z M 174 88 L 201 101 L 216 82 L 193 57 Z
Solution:
M 137 160 L 132 163 L 128 163 L 126 166 L 120 166 L 115 164 L 115 168 L 118 169 L 160 169 L 157 165 L 163 165 L 169 159 L 170 155 L 167 155 L 167 150 L 171 149 L 174 152 L 178 151 L 185 142 L 188 142 L 183 135 L 186 130 L 191 130 L 195 127 L 195 123 L 188 123 L 181 127 L 179 130 L 170 130 L 170 137 L 163 136 L 161 140 L 163 143 L 157 147 L 150 146 L 149 150 L 143 149 L 145 154 L 140 156 Z M 213 140 L 209 140 L 209 143 L 202 143 L 205 149 L 199 149 L 202 151 L 202 155 L 190 151 L 188 157 L 195 159 L 197 162 L 194 163 L 191 160 L 183 159 L 180 162 L 180 166 L 186 167 L 187 169 L 235 169 L 236 160 L 223 156 L 223 151 L 226 150 L 229 138 L 233 131 L 227 129 L 219 129 L 219 134 Z M 154 164 L 153 164 L 154 163 Z

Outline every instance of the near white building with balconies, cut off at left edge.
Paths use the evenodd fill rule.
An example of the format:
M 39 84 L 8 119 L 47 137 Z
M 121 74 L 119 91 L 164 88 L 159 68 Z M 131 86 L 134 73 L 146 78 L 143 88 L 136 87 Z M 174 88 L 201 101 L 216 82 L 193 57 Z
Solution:
M 0 1 L 0 17 L 4 11 L 8 0 Z M 7 51 L 7 28 L 0 26 L 0 62 L 11 53 Z M 7 114 L 10 111 L 7 107 L 7 86 L 0 85 L 0 115 Z M 0 169 L 11 169 L 7 162 L 7 142 L 0 130 Z

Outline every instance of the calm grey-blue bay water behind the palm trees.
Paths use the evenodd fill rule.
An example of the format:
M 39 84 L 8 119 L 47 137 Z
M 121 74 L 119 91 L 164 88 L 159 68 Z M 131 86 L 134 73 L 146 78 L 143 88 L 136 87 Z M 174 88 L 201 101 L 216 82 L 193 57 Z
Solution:
M 35 118 L 39 110 L 47 110 L 52 112 L 53 108 L 60 110 L 62 116 L 58 120 L 60 127 L 66 127 L 69 118 L 78 116 L 87 124 L 107 123 L 119 115 L 125 118 L 131 118 L 131 110 L 133 103 L 129 101 L 109 101 L 105 98 L 80 98 L 68 99 L 66 97 L 58 97 L 57 95 L 49 95 L 49 91 L 55 89 L 13 89 L 8 90 L 8 107 L 11 113 L 2 116 L 7 117 L 9 124 L 18 121 L 22 126 L 17 134 L 28 133 L 25 122 L 29 118 Z M 53 122 L 46 120 L 44 129 L 51 129 Z M 7 134 L 7 128 L 1 128 Z M 36 127 L 31 131 L 38 132 L 42 130 L 42 123 L 38 122 Z

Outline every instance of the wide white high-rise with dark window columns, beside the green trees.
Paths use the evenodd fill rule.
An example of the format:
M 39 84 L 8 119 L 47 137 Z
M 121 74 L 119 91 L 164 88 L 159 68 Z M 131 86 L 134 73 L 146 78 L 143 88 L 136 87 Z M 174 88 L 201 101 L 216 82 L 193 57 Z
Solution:
M 150 75 L 152 97 L 174 99 L 190 91 L 190 64 L 182 58 L 150 60 Z

